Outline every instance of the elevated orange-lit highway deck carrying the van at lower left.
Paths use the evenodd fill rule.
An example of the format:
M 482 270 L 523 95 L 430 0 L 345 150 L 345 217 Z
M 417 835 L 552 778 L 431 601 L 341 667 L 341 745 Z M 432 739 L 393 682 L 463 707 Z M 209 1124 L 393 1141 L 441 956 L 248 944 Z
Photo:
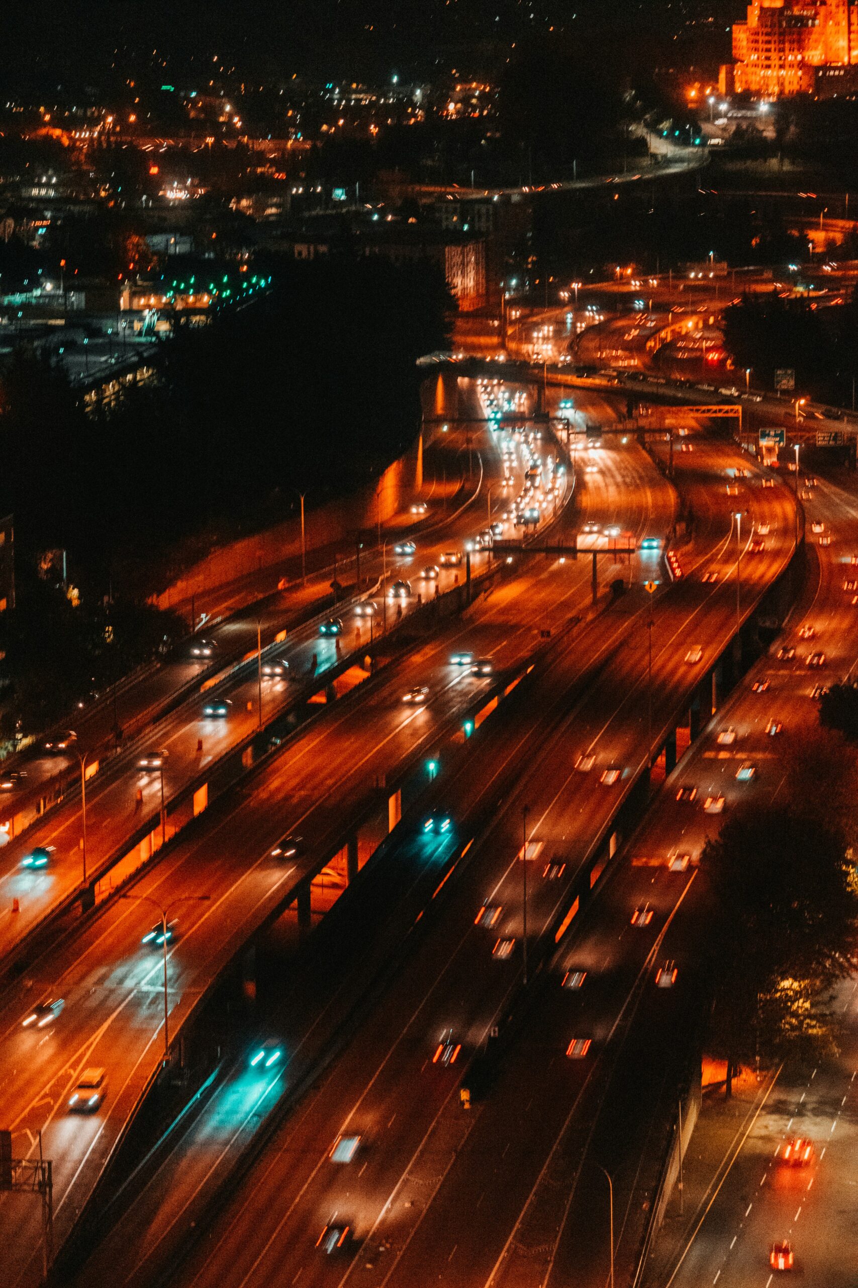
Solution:
M 603 479 L 593 483 L 592 493 L 596 506 L 601 496 L 612 497 L 606 518 L 615 516 L 619 498 L 637 471 L 639 526 L 650 531 L 653 518 L 659 527 L 668 523 L 671 493 L 646 457 L 637 448 L 616 455 L 608 451 L 605 457 Z M 657 515 L 656 493 L 662 497 Z M 349 809 L 372 795 L 378 777 L 404 755 L 413 756 L 421 746 L 432 747 L 439 730 L 455 720 L 461 703 L 473 702 L 475 683 L 479 689 L 485 681 L 473 681 L 467 671 L 452 668 L 450 648 L 467 643 L 475 652 L 490 653 L 498 670 L 515 666 L 517 658 L 533 652 L 540 630 L 565 625 L 572 608 L 588 598 L 587 565 L 538 559 L 520 587 L 509 582 L 495 591 L 464 626 L 452 627 L 440 640 L 428 640 L 412 657 L 383 671 L 378 683 L 370 681 L 367 697 L 345 703 L 342 712 L 325 712 L 323 726 L 307 726 L 257 775 L 241 808 L 232 814 L 212 809 L 193 840 L 179 841 L 135 884 L 135 894 L 165 903 L 203 890 L 210 895 L 205 909 L 193 903 L 181 909 L 181 935 L 170 957 L 174 1032 L 250 925 L 264 920 L 266 909 L 277 907 L 298 880 L 300 873 L 270 858 L 274 842 L 300 828 L 311 851 L 324 850 L 325 837 L 341 836 Z M 428 683 L 432 701 L 419 710 L 404 708 L 403 692 L 418 681 Z M 306 862 L 311 864 L 311 853 Z M 5 1047 L 4 1101 L 17 1148 L 32 1145 L 32 1133 L 41 1127 L 46 1150 L 54 1150 L 59 1231 L 72 1220 L 81 1202 L 77 1195 L 89 1191 L 151 1070 L 157 1068 L 160 965 L 151 949 L 140 947 L 152 921 L 149 905 L 108 904 L 78 935 L 37 965 L 32 990 L 6 1002 L 5 1036 L 0 1041 Z M 63 1015 L 48 1034 L 22 1033 L 24 1007 L 45 992 L 66 997 Z M 105 1112 L 91 1119 L 67 1115 L 69 1086 L 76 1073 L 94 1060 L 111 1069 Z M 0 1216 L 0 1226 L 3 1220 Z M 23 1257 L 24 1275 L 26 1262 Z

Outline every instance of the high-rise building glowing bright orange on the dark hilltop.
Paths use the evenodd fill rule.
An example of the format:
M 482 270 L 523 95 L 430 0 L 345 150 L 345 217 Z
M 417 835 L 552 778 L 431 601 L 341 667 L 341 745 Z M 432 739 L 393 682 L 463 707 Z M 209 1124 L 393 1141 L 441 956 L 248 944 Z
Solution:
M 737 93 L 762 98 L 809 94 L 816 68 L 858 63 L 853 0 L 753 0 L 733 26 L 735 64 L 722 71 Z M 724 88 L 727 88 L 724 85 Z

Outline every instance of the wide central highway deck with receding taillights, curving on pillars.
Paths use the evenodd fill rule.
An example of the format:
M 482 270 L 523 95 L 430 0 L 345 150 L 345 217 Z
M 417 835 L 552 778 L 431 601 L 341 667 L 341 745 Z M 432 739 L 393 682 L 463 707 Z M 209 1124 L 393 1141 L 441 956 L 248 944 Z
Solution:
M 686 578 L 665 591 L 655 609 L 656 726 L 659 712 L 665 712 L 664 721 L 665 708 L 675 706 L 678 693 L 687 693 L 693 684 L 684 661 L 693 623 L 700 621 L 701 636 L 709 640 L 719 631 L 729 635 L 733 623 L 733 587 L 704 582 L 702 573 L 710 571 L 709 562 L 722 558 L 729 532 L 727 489 L 718 504 L 711 471 L 722 477 L 726 468 L 735 468 L 736 453 L 720 444 L 701 444 L 695 459 L 701 486 L 706 457 L 713 519 L 706 528 L 701 507 L 698 567 L 689 560 Z M 747 487 L 749 493 L 755 488 L 749 502 L 760 514 L 780 515 L 782 523 L 771 554 L 749 573 L 750 607 L 751 585 L 755 591 L 762 589 L 789 556 L 791 542 L 783 529 L 791 532 L 792 511 L 783 489 Z M 292 1283 L 298 1273 L 302 1282 L 311 1283 L 345 1283 L 350 1276 L 372 1283 L 424 1282 L 427 1265 L 439 1266 L 444 1282 L 450 1283 L 479 1282 L 475 1265 L 480 1274 L 490 1274 L 542 1160 L 533 1155 L 507 1159 L 497 1136 L 481 1137 L 472 1150 L 471 1133 L 476 1140 L 491 1112 L 486 1106 L 464 1113 L 458 1105 L 457 1066 L 434 1065 L 432 1055 L 440 1034 L 453 1028 L 463 1046 L 461 1059 L 472 1056 L 516 994 L 522 969 L 521 869 L 516 858 L 522 835 L 520 804 L 531 810 L 527 912 L 534 951 L 544 929 L 562 916 L 575 877 L 594 871 L 594 841 L 614 813 L 614 793 L 624 791 L 623 783 L 630 782 L 646 760 L 643 598 L 637 590 L 615 605 L 612 613 L 625 618 L 624 647 L 611 649 L 571 710 L 562 702 L 565 719 L 533 756 L 515 801 L 504 802 L 494 826 L 475 841 L 467 867 L 450 882 L 443 923 L 430 927 L 367 1027 L 310 1103 L 282 1128 L 243 1191 L 221 1213 L 219 1235 L 199 1249 L 176 1282 Z M 704 612 L 709 618 L 705 630 Z M 606 634 L 605 623 L 601 632 Z M 554 688 L 563 692 L 557 680 Z M 590 752 L 596 757 L 592 766 L 576 770 L 579 757 Z M 599 779 L 612 765 L 621 773 L 617 783 L 607 786 Z M 499 909 L 490 926 L 475 923 L 484 904 Z M 511 954 L 495 957 L 493 943 L 509 938 L 517 940 Z M 599 1033 L 594 1038 L 598 1045 Z M 575 1066 L 562 1059 L 562 1050 L 557 1059 L 558 1075 L 569 1086 L 569 1070 Z M 530 1070 L 527 1099 L 534 1100 L 539 1079 L 533 1048 L 529 1060 L 524 1064 Z M 507 1122 L 518 1122 L 521 1106 L 527 1105 L 521 1090 L 518 1086 L 512 1118 L 507 1106 Z M 551 1109 L 554 1114 L 553 1099 L 544 1101 L 536 1094 L 535 1103 L 538 1113 Z M 355 1159 L 359 1166 L 331 1164 L 328 1153 L 338 1132 L 352 1128 L 365 1137 L 365 1153 Z M 340 1257 L 328 1258 L 315 1249 L 315 1240 L 334 1212 L 336 1220 L 350 1225 L 355 1243 Z

